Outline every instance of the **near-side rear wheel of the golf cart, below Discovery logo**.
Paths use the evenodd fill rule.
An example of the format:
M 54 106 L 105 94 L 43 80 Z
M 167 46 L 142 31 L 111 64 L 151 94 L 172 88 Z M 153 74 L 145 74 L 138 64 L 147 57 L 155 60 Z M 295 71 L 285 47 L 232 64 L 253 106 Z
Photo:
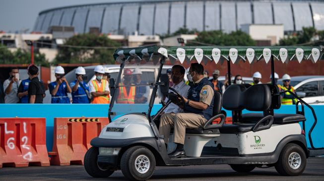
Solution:
M 298 155 L 300 157 L 300 163 L 297 164 L 297 167 L 294 165 L 292 168 L 289 164 L 289 159 L 294 158 L 294 155 Z M 296 157 L 296 158 L 298 158 Z M 297 160 L 296 160 L 297 161 Z M 295 160 L 293 159 L 293 162 Z M 298 161 L 297 161 L 298 162 Z M 282 176 L 298 176 L 302 174 L 306 168 L 306 153 L 302 147 L 295 143 L 288 143 L 282 149 L 279 159 L 275 164 L 276 171 Z M 299 166 L 298 166 L 299 165 Z

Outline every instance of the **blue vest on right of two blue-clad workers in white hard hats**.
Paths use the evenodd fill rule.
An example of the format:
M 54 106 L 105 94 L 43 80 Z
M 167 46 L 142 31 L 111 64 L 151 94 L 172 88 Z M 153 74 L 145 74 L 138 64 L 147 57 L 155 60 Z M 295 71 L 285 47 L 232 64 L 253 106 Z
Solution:
M 76 91 L 73 91 L 73 87 L 76 84 L 76 80 L 70 83 L 70 87 L 72 89 L 72 103 L 74 104 L 87 104 L 89 103 L 89 99 L 88 96 L 85 92 L 85 90 L 87 90 L 88 92 L 90 92 L 90 89 L 88 87 L 88 85 L 84 82 L 81 81 L 79 82 L 79 85 L 77 87 Z M 83 88 L 82 88 L 82 86 Z

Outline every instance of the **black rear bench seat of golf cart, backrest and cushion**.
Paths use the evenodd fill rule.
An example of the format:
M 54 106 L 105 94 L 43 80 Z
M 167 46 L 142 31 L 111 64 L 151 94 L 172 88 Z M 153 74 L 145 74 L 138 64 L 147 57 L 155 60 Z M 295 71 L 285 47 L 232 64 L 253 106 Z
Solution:
M 249 86 L 235 84 L 227 88 L 223 94 L 223 107 L 231 111 L 266 111 L 271 106 L 271 91 L 269 86 L 258 84 Z M 273 123 L 273 116 L 258 114 L 255 122 L 233 123 L 219 128 L 221 134 L 246 133 L 269 129 Z

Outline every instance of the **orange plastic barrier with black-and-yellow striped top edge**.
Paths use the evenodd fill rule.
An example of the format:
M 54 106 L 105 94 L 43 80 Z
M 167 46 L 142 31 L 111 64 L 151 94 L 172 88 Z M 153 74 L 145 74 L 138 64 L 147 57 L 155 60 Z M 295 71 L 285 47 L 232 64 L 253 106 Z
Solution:
M 54 118 L 51 165 L 83 165 L 91 139 L 108 123 L 108 118 Z

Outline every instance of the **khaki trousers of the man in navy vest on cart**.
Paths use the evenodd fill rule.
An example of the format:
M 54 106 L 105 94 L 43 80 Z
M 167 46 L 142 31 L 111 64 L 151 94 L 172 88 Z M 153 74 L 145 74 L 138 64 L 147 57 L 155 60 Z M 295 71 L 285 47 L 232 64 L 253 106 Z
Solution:
M 160 135 L 164 135 L 164 142 L 168 144 L 171 128 L 174 128 L 175 143 L 185 144 L 186 128 L 202 127 L 207 120 L 194 113 L 169 113 L 161 116 Z

